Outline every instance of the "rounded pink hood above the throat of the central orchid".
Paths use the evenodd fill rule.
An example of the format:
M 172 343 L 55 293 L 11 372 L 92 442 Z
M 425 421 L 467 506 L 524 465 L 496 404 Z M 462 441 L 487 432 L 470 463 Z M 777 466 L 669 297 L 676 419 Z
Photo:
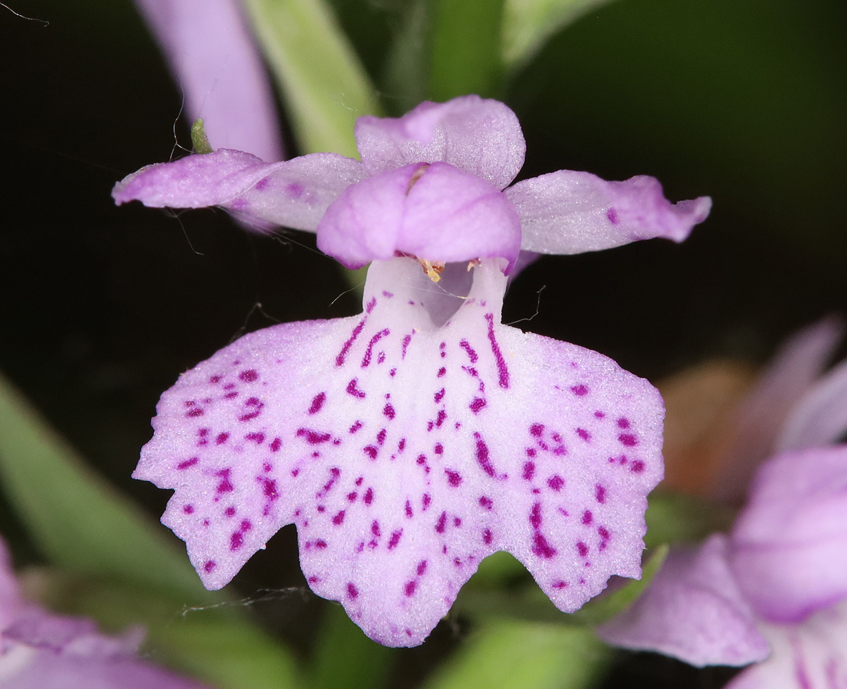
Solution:
M 398 252 L 439 262 L 518 258 L 521 223 L 484 179 L 446 163 L 418 163 L 351 185 L 318 224 L 318 249 L 347 267 Z

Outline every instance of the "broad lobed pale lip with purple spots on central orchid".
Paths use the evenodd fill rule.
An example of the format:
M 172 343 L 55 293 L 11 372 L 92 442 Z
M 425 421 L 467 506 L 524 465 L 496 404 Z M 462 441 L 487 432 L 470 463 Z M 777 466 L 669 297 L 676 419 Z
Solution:
M 252 333 L 163 395 L 134 476 L 176 489 L 163 522 L 207 587 L 294 521 L 315 593 L 411 646 L 495 550 L 564 610 L 639 575 L 656 390 L 501 326 L 495 261 L 453 313 L 431 285 L 410 259 L 374 262 L 361 317 Z

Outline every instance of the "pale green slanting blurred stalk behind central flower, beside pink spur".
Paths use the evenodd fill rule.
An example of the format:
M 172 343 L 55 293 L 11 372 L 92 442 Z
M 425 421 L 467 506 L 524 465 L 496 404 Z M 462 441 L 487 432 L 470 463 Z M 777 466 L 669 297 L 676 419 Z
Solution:
M 304 153 L 358 157 L 353 123 L 379 114 L 356 53 L 324 0 L 244 0 Z

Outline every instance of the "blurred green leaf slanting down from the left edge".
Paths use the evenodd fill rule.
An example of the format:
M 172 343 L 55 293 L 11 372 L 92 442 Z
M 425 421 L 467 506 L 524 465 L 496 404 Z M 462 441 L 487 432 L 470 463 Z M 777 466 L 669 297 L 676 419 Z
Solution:
M 175 538 L 86 466 L 2 374 L 0 479 L 54 564 L 189 601 L 220 599 L 202 588 Z

